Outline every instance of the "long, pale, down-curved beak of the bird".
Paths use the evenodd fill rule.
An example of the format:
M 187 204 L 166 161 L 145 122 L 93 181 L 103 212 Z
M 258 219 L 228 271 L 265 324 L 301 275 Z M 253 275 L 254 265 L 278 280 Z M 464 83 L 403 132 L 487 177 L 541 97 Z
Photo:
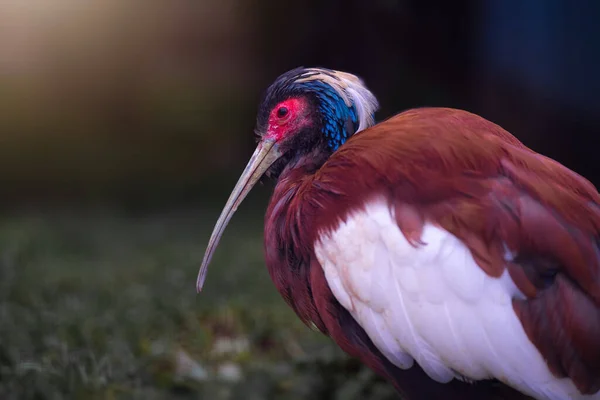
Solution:
M 221 215 L 219 216 L 212 235 L 210 236 L 210 240 L 208 241 L 204 259 L 202 260 L 202 265 L 198 272 L 198 279 L 196 280 L 196 290 L 198 292 L 202 290 L 204 280 L 206 279 L 206 272 L 208 271 L 208 264 L 210 263 L 213 253 L 219 244 L 219 240 L 223 235 L 223 231 L 233 216 L 233 213 L 235 213 L 238 206 L 242 203 L 254 184 L 256 184 L 265 171 L 277 161 L 279 157 L 281 157 L 281 153 L 279 152 L 274 139 L 264 139 L 256 147 L 242 176 L 240 176 L 240 179 L 233 188 L 233 191 L 227 200 L 227 204 L 225 204 L 223 211 L 221 211 Z

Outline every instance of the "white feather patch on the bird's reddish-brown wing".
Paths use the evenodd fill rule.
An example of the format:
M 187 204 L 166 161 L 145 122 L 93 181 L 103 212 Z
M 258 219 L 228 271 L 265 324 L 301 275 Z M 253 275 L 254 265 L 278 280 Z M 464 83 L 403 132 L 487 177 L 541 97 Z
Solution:
M 412 247 L 384 201 L 351 214 L 315 243 L 332 293 L 396 366 L 434 380 L 496 378 L 537 399 L 600 400 L 556 378 L 512 308 L 507 272 L 492 278 L 469 249 L 431 224 Z

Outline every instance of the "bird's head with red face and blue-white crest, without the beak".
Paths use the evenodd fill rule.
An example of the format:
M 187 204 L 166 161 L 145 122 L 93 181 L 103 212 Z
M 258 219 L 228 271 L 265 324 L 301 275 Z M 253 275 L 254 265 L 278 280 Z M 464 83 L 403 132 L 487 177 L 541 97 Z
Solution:
M 316 147 L 331 154 L 373 125 L 377 107 L 375 96 L 352 74 L 296 68 L 280 75 L 265 93 L 256 126 L 260 139 L 274 139 L 284 154 L 269 175 Z

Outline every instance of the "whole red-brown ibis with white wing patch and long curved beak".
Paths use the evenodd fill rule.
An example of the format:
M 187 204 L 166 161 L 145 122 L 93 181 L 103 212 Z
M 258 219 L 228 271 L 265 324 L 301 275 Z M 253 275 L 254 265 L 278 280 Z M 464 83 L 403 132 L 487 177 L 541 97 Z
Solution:
M 306 325 L 404 399 L 600 400 L 600 195 L 466 110 L 375 121 L 362 78 L 278 76 L 219 216 L 276 181 L 264 257 Z

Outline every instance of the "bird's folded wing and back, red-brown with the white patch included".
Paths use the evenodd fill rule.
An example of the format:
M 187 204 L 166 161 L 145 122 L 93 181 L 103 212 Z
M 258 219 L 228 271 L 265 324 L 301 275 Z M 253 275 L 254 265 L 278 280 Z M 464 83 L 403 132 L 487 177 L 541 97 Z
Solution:
M 392 363 L 600 399 L 588 181 L 473 114 L 418 109 L 351 138 L 309 192 L 327 283 Z

